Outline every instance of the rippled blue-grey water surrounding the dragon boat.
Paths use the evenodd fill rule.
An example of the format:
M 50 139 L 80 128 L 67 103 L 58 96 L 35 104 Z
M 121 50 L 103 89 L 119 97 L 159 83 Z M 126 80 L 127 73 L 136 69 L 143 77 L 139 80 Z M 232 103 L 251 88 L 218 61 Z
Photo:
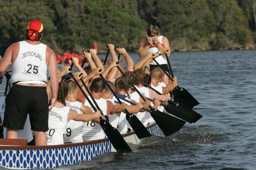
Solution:
M 186 123 L 172 136 L 153 136 L 132 145 L 133 153 L 105 153 L 57 169 L 256 169 L 255 54 L 253 50 L 172 53 L 179 86 L 200 102 L 194 110 L 204 117 Z M 134 63 L 140 59 L 137 54 L 131 57 Z M 5 81 L 0 94 L 4 86 Z

